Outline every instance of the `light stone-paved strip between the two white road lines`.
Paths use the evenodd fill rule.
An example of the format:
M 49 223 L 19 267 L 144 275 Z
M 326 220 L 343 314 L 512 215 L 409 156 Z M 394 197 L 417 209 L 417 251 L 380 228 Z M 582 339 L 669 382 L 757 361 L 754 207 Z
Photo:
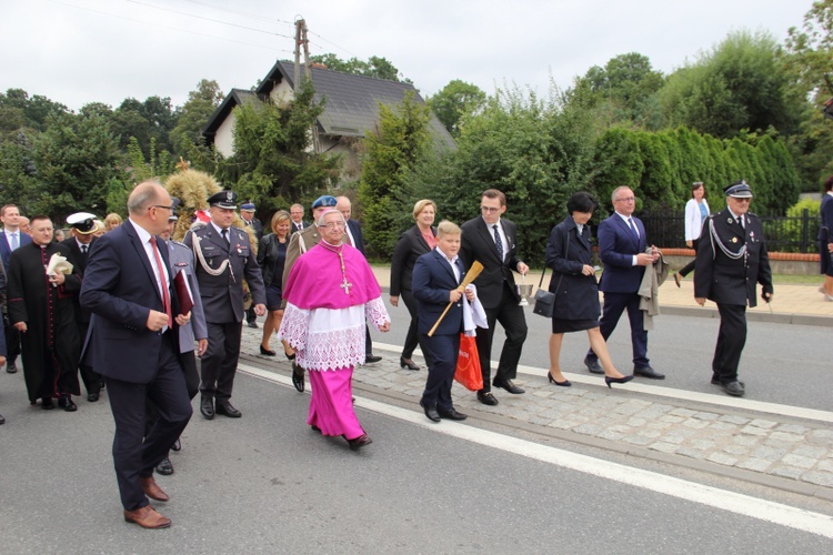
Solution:
M 261 330 L 243 327 L 243 357 L 289 376 L 285 359 L 257 354 L 260 337 Z M 398 353 L 382 349 L 374 343 L 382 362 L 353 374 L 357 387 L 412 401 L 419 412 L 425 371 L 401 370 Z M 554 387 L 545 370 L 520 370 L 516 383 L 526 390 L 524 395 L 501 390 L 500 404 L 486 407 L 455 384 L 455 407 L 473 418 L 833 501 L 833 412 L 786 407 L 777 414 L 781 405 L 727 398 L 716 391 L 679 392 L 691 398 L 674 398 L 668 389 L 660 395 L 658 387 L 639 379 L 609 390 L 601 377 L 589 374 L 571 374 L 572 387 Z

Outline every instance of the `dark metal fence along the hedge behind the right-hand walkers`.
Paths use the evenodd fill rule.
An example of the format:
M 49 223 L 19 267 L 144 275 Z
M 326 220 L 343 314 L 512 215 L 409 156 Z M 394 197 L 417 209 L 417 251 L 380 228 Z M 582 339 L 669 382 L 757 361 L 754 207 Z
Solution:
M 658 246 L 685 248 L 685 219 L 683 214 L 635 214 L 645 224 L 648 239 Z M 819 214 L 804 210 L 800 216 L 769 216 L 761 219 L 766 248 L 772 252 L 819 252 Z

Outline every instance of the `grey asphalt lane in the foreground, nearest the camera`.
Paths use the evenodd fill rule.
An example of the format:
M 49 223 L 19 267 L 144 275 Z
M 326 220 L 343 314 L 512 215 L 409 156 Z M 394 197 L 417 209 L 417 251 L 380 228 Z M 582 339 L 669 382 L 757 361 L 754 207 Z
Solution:
M 482 422 L 426 424 L 412 402 L 405 406 L 413 422 L 359 408 L 374 443 L 353 453 L 304 424 L 307 395 L 245 374 L 234 393 L 243 418 L 209 422 L 195 414 L 183 451 L 172 455 L 177 473 L 158 477 L 171 495 L 158 505 L 173 526 L 144 531 L 121 518 L 106 396 L 81 401 L 77 413 L 47 412 L 28 406 L 20 374 L 0 376 L 8 418 L 0 426 L 0 552 L 782 554 L 830 547 L 830 537 L 819 534 L 516 454 L 500 437 L 510 445 L 521 434 Z M 362 405 L 372 394 L 357 396 Z M 482 432 L 499 440 L 486 446 L 441 433 L 449 426 L 474 435 L 488 427 Z

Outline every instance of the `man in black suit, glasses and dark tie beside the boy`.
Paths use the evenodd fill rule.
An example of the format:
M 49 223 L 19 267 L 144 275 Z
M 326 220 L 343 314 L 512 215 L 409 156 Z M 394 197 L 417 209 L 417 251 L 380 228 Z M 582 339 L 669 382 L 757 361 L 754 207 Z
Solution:
M 510 393 L 524 393 L 512 383 L 518 375 L 518 363 L 521 360 L 523 342 L 526 340 L 526 317 L 523 306 L 518 303 L 515 278 L 512 270 L 521 274 L 529 272 L 529 266 L 518 258 L 518 230 L 515 224 L 501 215 L 506 211 L 506 196 L 496 189 L 483 192 L 480 199 L 481 216 L 469 220 L 462 225 L 461 258 L 466 271 L 474 261 L 483 264 L 483 271 L 474 280 L 478 297 L 483 304 L 489 322 L 488 330 L 478 330 L 478 352 L 480 367 L 483 372 L 483 389 L 478 392 L 478 401 L 485 405 L 496 405 L 491 386 L 503 387 Z M 491 377 L 492 340 L 494 323 L 500 322 L 506 332 L 498 371 L 494 381 Z

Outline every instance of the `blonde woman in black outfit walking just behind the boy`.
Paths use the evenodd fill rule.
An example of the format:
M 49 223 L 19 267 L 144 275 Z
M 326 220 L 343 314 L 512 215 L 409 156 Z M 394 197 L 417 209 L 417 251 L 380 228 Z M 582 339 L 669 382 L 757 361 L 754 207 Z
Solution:
M 413 362 L 413 350 L 416 349 L 416 301 L 411 292 L 411 274 L 416 259 L 431 251 L 436 246 L 436 228 L 433 226 L 434 216 L 436 215 L 436 204 L 434 201 L 423 199 L 416 201 L 413 206 L 413 219 L 416 225 L 402 233 L 397 246 L 393 249 L 393 260 L 391 262 L 391 305 L 399 306 L 399 296 L 405 302 L 408 313 L 411 315 L 411 325 L 408 327 L 405 344 L 402 347 L 402 355 L 399 357 L 400 367 L 408 370 L 420 370 Z M 425 362 L 431 366 L 430 355 L 423 349 L 422 355 Z

